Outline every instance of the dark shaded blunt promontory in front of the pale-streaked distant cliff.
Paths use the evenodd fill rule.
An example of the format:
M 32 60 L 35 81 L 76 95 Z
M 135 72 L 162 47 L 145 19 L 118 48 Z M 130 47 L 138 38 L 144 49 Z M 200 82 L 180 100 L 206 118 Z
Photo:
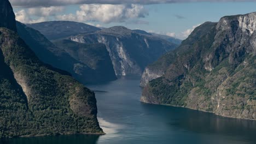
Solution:
M 73 71 L 82 82 L 98 83 L 117 79 L 106 46 L 100 43 L 81 44 L 71 40 L 54 41 L 57 47 L 65 50 L 78 61 Z

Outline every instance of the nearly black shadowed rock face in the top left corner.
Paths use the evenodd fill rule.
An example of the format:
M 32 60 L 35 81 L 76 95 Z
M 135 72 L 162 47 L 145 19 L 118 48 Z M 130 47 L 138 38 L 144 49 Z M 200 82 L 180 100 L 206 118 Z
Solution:
M 0 19 L 0 27 L 6 27 L 15 32 L 17 31 L 13 8 L 8 0 L 0 1 Z

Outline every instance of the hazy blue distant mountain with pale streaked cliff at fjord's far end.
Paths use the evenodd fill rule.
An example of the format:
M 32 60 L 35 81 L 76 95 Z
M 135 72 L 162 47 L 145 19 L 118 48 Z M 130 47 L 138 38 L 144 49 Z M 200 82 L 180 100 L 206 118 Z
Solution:
M 122 26 L 71 36 L 72 41 L 106 45 L 116 75 L 141 75 L 144 68 L 177 47 L 167 40 L 134 32 Z

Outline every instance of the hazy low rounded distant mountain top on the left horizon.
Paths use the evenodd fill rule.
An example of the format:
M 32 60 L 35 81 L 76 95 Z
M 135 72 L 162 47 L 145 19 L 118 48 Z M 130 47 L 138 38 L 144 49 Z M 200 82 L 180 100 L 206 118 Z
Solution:
M 100 28 L 73 21 L 46 21 L 27 24 L 27 26 L 33 29 L 37 29 L 37 31 L 45 35 L 45 37 L 49 40 L 60 39 L 74 34 L 89 33 L 100 30 Z

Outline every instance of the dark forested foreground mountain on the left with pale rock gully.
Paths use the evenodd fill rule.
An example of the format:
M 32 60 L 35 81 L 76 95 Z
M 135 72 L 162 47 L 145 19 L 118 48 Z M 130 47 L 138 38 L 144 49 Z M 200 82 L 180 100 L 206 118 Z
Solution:
M 10 4 L 5 6 L 3 11 L 12 9 Z M 103 134 L 94 92 L 66 71 L 41 62 L 24 40 L 8 29 L 13 25 L 15 19 L 0 28 L 0 138 Z

